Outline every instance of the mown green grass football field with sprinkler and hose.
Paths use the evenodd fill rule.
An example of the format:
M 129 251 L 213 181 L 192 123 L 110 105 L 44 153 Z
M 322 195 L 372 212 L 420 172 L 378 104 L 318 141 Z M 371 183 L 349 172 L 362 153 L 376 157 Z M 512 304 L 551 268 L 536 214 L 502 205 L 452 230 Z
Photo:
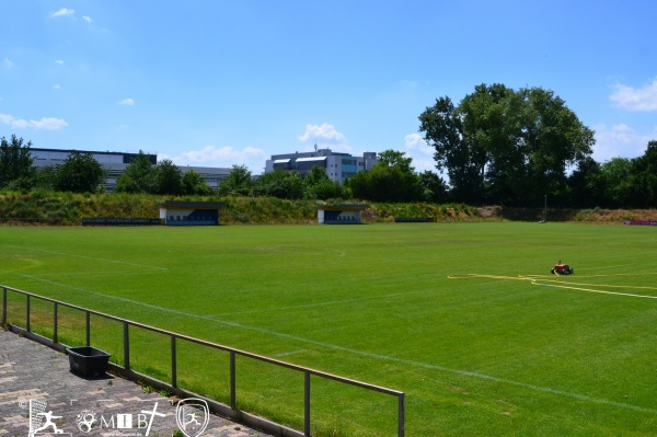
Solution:
M 573 276 L 550 275 L 560 260 Z M 656 260 L 653 227 L 0 228 L 0 284 L 404 391 L 413 437 L 657 435 Z M 120 326 L 102 332 L 120 355 Z M 132 347 L 166 379 L 166 338 Z M 178 353 L 178 383 L 226 401 L 227 355 Z M 301 426 L 302 379 L 239 369 L 241 407 Z M 313 382 L 321 435 L 393 436 L 395 414 Z

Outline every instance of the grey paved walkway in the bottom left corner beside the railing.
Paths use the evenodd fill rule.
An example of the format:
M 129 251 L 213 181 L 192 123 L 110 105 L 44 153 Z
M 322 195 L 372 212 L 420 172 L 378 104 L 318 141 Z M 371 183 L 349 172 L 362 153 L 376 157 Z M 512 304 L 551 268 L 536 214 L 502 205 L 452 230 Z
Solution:
M 193 419 L 203 422 L 205 414 L 193 402 L 183 434 L 176 424 L 178 399 L 147 393 L 115 376 L 83 379 L 69 369 L 68 356 L 0 330 L 0 437 L 269 437 L 212 414 L 199 433 Z M 30 417 L 32 430 L 43 427 L 34 436 Z

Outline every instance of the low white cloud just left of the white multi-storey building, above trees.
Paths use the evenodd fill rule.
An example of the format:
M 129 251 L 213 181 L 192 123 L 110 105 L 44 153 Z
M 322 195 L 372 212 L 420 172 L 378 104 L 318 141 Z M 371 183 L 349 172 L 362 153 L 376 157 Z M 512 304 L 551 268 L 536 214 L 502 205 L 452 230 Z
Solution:
M 158 156 L 158 160 L 171 159 L 177 165 L 220 166 L 228 169 L 233 165 L 245 165 L 253 174 L 263 173 L 267 158 L 264 150 L 255 147 L 245 147 L 239 150 L 230 146 L 206 146 L 199 150 L 185 151 L 178 157 L 170 157 L 168 154 Z

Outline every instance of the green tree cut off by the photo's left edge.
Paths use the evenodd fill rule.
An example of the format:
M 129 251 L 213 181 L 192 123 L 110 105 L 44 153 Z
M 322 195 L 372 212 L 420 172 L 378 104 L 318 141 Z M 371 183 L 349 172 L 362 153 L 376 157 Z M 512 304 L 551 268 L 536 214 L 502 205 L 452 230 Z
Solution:
M 10 141 L 0 139 L 0 187 L 28 189 L 36 174 L 34 158 L 30 152 L 32 142 L 11 136 Z

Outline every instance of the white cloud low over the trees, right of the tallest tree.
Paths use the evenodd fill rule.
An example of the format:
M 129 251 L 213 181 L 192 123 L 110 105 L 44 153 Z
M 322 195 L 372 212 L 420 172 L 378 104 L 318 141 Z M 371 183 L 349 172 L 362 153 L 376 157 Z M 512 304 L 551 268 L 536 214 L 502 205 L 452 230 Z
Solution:
M 642 156 L 648 141 L 657 138 L 657 126 L 647 135 L 634 131 L 625 124 L 607 126 L 600 124 L 593 127 L 596 131 L 596 145 L 593 146 L 593 159 L 600 163 L 612 158 L 635 158 Z

